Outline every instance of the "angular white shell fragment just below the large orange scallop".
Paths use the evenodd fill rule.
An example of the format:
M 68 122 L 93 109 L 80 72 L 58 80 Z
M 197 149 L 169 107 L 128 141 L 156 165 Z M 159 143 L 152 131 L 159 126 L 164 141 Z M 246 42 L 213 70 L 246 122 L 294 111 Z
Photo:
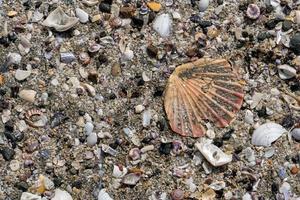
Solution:
M 213 166 L 221 166 L 232 161 L 232 155 L 224 153 L 214 144 L 211 144 L 208 140 L 202 140 L 197 142 L 195 146 L 199 149 L 202 155 Z

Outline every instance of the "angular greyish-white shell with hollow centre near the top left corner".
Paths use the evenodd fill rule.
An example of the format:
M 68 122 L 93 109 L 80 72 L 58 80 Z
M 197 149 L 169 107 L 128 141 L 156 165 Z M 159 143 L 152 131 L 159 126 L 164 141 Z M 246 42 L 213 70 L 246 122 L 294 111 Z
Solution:
M 43 25 L 54 28 L 58 32 L 63 32 L 74 27 L 78 21 L 78 18 L 69 17 L 61 7 L 57 7 L 43 21 Z

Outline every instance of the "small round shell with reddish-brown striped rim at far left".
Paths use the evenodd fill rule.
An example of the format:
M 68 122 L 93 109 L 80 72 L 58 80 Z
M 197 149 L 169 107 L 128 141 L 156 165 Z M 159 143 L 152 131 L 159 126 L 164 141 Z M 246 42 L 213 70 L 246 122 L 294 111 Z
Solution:
M 48 118 L 40 110 L 31 109 L 25 113 L 25 121 L 30 126 L 38 128 L 46 126 Z

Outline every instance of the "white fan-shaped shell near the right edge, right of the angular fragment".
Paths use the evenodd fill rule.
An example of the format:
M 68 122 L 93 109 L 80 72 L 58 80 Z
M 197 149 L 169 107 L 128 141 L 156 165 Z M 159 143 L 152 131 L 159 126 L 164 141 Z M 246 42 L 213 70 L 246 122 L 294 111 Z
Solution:
M 271 146 L 286 130 L 281 125 L 268 122 L 259 126 L 252 135 L 252 144 L 256 146 Z

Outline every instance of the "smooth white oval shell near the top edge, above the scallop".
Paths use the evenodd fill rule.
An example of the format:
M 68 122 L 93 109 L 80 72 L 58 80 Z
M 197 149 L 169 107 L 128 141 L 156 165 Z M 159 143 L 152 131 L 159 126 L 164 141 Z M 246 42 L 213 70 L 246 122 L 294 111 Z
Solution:
M 172 29 L 172 20 L 169 14 L 157 16 L 153 23 L 153 29 L 161 36 L 168 37 Z

